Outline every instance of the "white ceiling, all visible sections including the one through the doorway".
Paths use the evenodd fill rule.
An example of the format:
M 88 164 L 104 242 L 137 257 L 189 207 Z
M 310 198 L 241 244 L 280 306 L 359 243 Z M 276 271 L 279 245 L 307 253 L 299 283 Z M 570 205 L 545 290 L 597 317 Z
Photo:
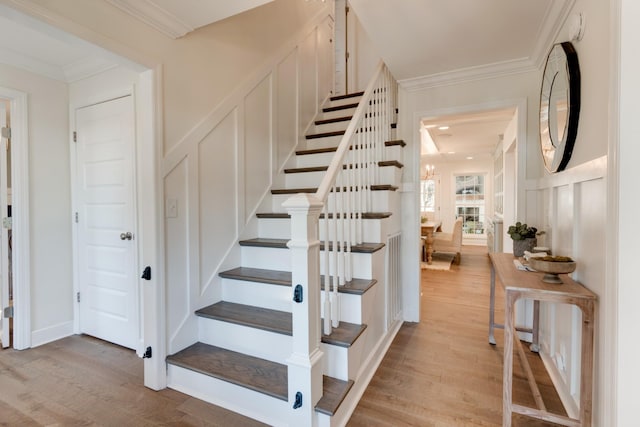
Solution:
M 169 37 L 273 0 L 106 0 Z M 303 0 L 299 0 L 303 1 Z M 575 0 L 350 0 L 377 53 L 407 88 L 537 69 Z M 0 5 L 0 62 L 72 82 L 122 63 L 96 46 Z M 511 112 L 512 113 L 512 112 Z M 438 118 L 446 155 L 488 155 L 509 112 Z M 435 160 L 435 159 L 434 159 Z

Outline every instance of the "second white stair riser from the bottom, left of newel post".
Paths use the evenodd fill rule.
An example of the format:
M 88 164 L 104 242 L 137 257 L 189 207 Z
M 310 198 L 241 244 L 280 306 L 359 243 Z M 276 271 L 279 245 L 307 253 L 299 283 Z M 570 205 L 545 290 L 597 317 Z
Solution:
M 291 336 L 198 317 L 198 340 L 227 350 L 286 363 L 291 357 Z

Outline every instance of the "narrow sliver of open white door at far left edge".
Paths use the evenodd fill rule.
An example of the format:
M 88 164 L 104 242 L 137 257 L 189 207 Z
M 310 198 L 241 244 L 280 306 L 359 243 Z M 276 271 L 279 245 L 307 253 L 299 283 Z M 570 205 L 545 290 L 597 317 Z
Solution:
M 0 100 L 0 127 L 7 125 L 7 108 L 3 100 Z M 7 206 L 7 146 L 8 138 L 5 132 L 2 132 L 2 143 L 0 144 L 0 221 L 8 218 L 9 212 Z M 11 332 L 9 327 L 9 319 L 5 317 L 5 309 L 10 305 L 9 297 L 9 229 L 10 223 L 2 221 L 0 224 L 0 338 L 2 339 L 2 348 L 9 347 L 11 342 Z

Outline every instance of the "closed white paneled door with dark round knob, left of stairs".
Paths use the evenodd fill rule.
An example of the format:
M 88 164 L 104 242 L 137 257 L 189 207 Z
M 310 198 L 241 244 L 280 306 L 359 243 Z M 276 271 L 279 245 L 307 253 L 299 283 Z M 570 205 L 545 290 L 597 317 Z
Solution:
M 76 110 L 80 331 L 136 349 L 132 96 Z

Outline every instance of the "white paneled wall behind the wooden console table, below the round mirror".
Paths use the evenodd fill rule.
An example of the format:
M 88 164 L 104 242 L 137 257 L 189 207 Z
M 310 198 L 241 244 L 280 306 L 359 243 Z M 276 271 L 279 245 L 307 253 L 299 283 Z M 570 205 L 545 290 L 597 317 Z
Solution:
M 554 255 L 567 255 L 577 261 L 574 280 L 580 282 L 599 298 L 605 291 L 605 227 L 606 224 L 606 157 L 587 162 L 539 180 L 528 190 L 527 204 L 537 200 L 537 217 L 540 229 L 546 231 L 545 246 Z M 562 285 L 559 285 L 562 286 Z M 597 305 L 598 307 L 598 305 Z M 570 415 L 576 416 L 580 401 L 580 332 L 582 314 L 572 305 L 541 304 L 540 354 L 558 388 L 558 392 Z M 601 318 L 601 313 L 596 314 Z M 603 363 L 602 334 L 596 329 L 595 372 Z M 597 401 L 599 384 L 603 379 L 594 378 Z

